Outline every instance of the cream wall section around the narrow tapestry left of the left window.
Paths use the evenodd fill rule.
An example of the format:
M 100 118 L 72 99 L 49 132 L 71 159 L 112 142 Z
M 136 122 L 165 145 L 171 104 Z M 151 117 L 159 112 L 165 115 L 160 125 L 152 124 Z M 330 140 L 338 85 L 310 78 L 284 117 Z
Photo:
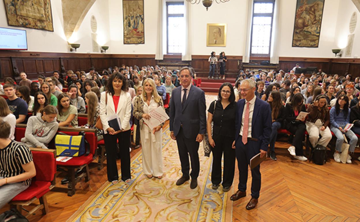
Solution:
M 99 0 L 98 0 L 99 1 Z M 118 54 L 155 54 L 157 41 L 158 0 L 144 1 L 145 44 L 124 45 L 122 1 L 109 0 L 109 18 L 111 27 L 111 47 L 109 53 Z

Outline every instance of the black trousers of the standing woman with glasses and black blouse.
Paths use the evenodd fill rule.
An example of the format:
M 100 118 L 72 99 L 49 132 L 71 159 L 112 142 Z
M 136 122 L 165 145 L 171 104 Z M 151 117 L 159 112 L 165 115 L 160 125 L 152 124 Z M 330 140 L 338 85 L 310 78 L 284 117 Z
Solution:
M 215 147 L 212 148 L 212 184 L 220 184 L 221 182 L 221 159 L 224 153 L 224 174 L 222 186 L 227 187 L 233 185 L 235 172 L 235 149 L 231 148 L 234 138 L 229 136 L 217 136 L 214 138 Z

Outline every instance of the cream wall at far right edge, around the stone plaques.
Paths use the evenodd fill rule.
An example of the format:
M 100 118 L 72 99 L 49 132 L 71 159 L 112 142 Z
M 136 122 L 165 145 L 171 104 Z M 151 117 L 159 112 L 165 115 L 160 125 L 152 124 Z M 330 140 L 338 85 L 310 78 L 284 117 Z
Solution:
M 354 36 L 354 45 L 352 47 L 352 54 L 350 57 L 354 58 L 360 56 L 360 13 L 357 10 L 356 6 L 351 0 L 342 0 L 339 5 L 339 15 L 336 25 L 336 38 L 334 46 L 342 50 L 342 58 L 345 56 L 345 48 L 347 45 L 347 36 L 350 34 L 349 23 L 350 18 L 353 12 L 357 13 L 357 25 L 353 34 Z

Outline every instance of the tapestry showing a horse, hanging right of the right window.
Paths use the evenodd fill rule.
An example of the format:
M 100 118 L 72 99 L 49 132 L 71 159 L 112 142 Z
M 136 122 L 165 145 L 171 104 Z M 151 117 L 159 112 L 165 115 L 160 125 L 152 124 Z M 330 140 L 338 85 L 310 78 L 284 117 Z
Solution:
M 297 0 L 293 47 L 318 47 L 325 0 Z

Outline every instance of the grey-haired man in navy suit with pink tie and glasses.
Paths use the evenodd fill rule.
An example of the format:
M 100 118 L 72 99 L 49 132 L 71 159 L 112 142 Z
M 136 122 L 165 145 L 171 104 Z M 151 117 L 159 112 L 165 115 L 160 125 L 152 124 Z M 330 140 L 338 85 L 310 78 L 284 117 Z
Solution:
M 265 101 L 257 98 L 254 94 L 255 82 L 246 79 L 241 82 L 240 93 L 243 98 L 237 103 L 235 116 L 235 149 L 239 168 L 238 191 L 230 199 L 238 200 L 246 196 L 246 184 L 248 178 L 248 165 L 250 159 L 260 153 L 264 157 L 269 146 L 271 133 L 271 109 Z M 246 205 L 247 210 L 256 207 L 260 195 L 261 174 L 260 165 L 251 170 L 251 200 Z

